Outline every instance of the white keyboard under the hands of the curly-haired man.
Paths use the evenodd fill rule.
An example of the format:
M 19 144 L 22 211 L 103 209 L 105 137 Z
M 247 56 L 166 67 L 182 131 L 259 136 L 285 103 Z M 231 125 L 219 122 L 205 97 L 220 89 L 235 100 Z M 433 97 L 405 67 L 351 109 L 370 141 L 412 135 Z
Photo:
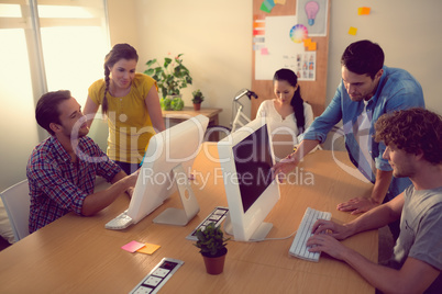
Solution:
M 299 224 L 298 230 L 296 233 L 294 242 L 290 246 L 288 252 L 297 258 L 306 259 L 309 261 L 319 261 L 321 252 L 309 252 L 306 246 L 307 240 L 313 235 L 311 229 L 317 222 L 317 219 L 331 219 L 331 213 L 316 211 L 313 208 L 307 207 L 303 214 L 302 220 Z

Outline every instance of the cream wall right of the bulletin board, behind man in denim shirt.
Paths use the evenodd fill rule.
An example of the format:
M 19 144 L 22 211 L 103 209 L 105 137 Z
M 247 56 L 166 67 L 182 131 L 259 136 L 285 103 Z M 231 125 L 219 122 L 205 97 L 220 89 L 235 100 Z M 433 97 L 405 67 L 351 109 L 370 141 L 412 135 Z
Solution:
M 358 7 L 371 14 L 358 16 Z M 440 0 L 332 0 L 327 93 L 333 98 L 341 80 L 341 55 L 345 47 L 368 38 L 383 47 L 385 65 L 408 70 L 423 89 L 427 108 L 442 114 L 442 1 Z M 355 36 L 349 27 L 357 27 Z

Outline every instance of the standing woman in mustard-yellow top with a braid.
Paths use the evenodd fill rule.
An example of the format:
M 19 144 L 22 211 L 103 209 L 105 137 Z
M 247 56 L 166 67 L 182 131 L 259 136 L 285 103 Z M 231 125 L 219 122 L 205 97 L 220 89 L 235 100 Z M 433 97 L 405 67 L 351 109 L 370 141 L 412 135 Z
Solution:
M 151 137 L 165 129 L 156 81 L 135 72 L 137 61 L 131 45 L 114 45 L 104 58 L 104 79 L 89 87 L 84 111 L 90 126 L 101 105 L 109 125 L 108 156 L 128 174 L 139 168 Z

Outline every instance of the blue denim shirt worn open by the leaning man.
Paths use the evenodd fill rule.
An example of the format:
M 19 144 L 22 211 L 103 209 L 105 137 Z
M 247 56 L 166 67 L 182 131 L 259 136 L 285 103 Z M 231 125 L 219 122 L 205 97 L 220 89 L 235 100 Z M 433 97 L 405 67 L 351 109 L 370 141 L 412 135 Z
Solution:
M 374 140 L 374 124 L 384 113 L 410 108 L 424 108 L 423 92 L 420 83 L 406 70 L 399 68 L 383 67 L 384 74 L 380 77 L 376 93 L 367 102 L 354 102 L 350 99 L 343 81 L 336 89 L 334 98 L 321 116 L 314 120 L 311 126 L 303 134 L 303 139 L 313 139 L 323 143 L 327 134 L 341 120 L 343 133 L 345 135 L 345 147 L 353 165 L 372 183 L 376 180 L 373 172 L 371 160 L 364 157 L 358 138 L 355 136 L 358 129 L 358 121 L 366 113 L 369 117 L 369 129 L 366 135 L 368 138 L 368 152 L 374 160 L 375 168 L 390 171 L 388 160 L 383 158 L 385 150 L 384 143 Z M 366 105 L 365 105 L 366 104 Z M 364 146 L 364 148 L 366 148 Z M 387 197 L 393 199 L 400 194 L 411 184 L 408 178 L 393 178 L 388 189 Z

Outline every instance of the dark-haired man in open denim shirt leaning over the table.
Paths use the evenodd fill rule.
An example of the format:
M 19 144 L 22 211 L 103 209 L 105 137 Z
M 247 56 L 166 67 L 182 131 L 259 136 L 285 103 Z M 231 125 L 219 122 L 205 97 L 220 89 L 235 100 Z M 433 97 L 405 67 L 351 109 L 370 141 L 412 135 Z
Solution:
M 371 41 L 349 45 L 341 58 L 342 81 L 321 116 L 306 131 L 298 149 L 275 165 L 275 174 L 287 173 L 341 120 L 350 159 L 368 181 L 374 183 L 371 197 L 354 197 L 338 205 L 352 214 L 367 212 L 391 200 L 411 184 L 408 178 L 391 179 L 391 167 L 383 159 L 385 145 L 373 138 L 374 124 L 384 113 L 424 106 L 422 88 L 406 70 L 384 66 L 384 52 Z M 357 171 L 353 174 L 361 178 Z

